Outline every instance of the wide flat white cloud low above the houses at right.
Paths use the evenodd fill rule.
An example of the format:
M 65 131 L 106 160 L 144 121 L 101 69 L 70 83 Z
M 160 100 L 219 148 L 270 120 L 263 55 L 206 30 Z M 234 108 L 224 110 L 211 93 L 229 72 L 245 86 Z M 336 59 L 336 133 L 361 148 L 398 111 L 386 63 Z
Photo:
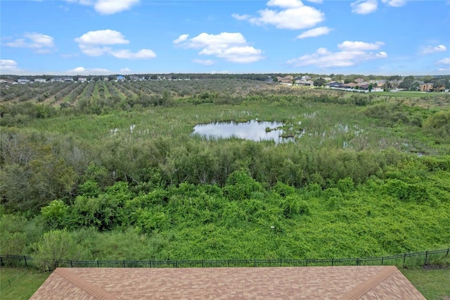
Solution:
M 299 58 L 291 59 L 288 63 L 296 67 L 304 65 L 314 65 L 319 68 L 349 67 L 364 61 L 386 58 L 387 53 L 385 51 L 377 53 L 368 51 L 378 49 L 382 44 L 381 42 L 371 44 L 345 41 L 342 44 L 338 44 L 338 48 L 342 51 L 332 52 L 326 48 L 319 48 L 314 54 L 307 54 Z

